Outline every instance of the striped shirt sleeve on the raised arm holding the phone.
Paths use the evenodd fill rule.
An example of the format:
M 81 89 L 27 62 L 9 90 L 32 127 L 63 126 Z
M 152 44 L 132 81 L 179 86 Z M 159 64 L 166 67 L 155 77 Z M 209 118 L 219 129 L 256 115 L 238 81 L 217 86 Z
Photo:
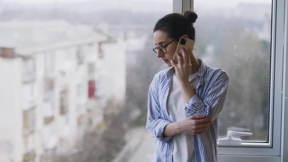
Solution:
M 191 115 L 206 115 L 212 120 L 218 118 L 220 111 L 226 101 L 227 87 L 229 77 L 223 71 L 217 81 L 208 89 L 204 100 L 201 100 L 196 94 L 185 104 L 185 114 L 187 117 Z

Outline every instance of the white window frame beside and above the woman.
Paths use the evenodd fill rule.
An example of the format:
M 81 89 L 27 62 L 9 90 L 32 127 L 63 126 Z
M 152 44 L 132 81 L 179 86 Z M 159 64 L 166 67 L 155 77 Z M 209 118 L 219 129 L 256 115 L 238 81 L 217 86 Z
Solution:
M 288 119 L 288 99 L 282 95 L 279 85 L 279 83 L 282 85 L 282 91 L 285 94 L 288 91 L 288 72 L 285 70 L 288 67 L 286 58 L 288 35 L 284 31 L 288 21 L 287 11 L 285 11 L 285 7 L 288 8 L 287 3 L 288 0 L 273 0 L 272 3 L 269 143 L 242 142 L 241 146 L 218 146 L 219 162 L 283 162 L 288 160 L 288 128 L 284 129 L 285 125 L 288 127 L 288 120 L 284 120 Z M 186 10 L 193 11 L 193 0 L 173 0 L 173 13 L 184 13 Z M 284 32 L 286 33 L 285 50 L 283 50 Z

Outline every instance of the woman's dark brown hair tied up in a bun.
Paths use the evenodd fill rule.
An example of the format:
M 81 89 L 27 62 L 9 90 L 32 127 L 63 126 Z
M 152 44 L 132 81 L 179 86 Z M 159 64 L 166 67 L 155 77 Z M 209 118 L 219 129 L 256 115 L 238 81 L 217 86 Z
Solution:
M 164 31 L 174 40 L 179 41 L 183 35 L 188 35 L 188 38 L 195 41 L 195 28 L 192 26 L 197 19 L 195 12 L 186 11 L 184 15 L 168 14 L 161 18 L 155 24 L 153 33 L 157 30 Z

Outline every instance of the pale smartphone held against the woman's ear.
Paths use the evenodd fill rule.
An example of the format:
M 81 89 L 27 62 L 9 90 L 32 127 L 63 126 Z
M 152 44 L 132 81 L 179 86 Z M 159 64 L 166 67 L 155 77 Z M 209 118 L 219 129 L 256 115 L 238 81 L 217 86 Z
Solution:
M 174 53 L 174 56 L 173 56 L 173 61 L 178 63 L 178 58 L 176 56 L 176 53 L 177 52 L 180 52 L 181 48 L 186 48 L 188 47 L 188 49 L 190 50 L 190 54 L 192 53 L 192 49 L 193 49 L 193 46 L 194 46 L 194 43 L 195 41 L 194 40 L 191 40 L 191 39 L 188 39 L 188 38 L 184 38 L 184 37 L 181 37 L 179 42 L 178 42 L 178 45 L 176 47 L 176 50 L 175 50 L 175 53 Z M 191 61 L 191 56 L 189 55 L 188 56 L 188 59 L 189 61 Z M 191 62 L 189 62 L 191 64 Z

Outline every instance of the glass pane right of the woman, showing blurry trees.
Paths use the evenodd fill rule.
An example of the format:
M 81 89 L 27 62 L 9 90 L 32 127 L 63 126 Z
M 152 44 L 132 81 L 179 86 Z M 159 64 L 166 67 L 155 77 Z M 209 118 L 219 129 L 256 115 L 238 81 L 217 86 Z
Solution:
M 219 117 L 219 138 L 228 130 L 252 132 L 244 141 L 268 142 L 271 0 L 194 0 L 194 53 L 230 78 Z

